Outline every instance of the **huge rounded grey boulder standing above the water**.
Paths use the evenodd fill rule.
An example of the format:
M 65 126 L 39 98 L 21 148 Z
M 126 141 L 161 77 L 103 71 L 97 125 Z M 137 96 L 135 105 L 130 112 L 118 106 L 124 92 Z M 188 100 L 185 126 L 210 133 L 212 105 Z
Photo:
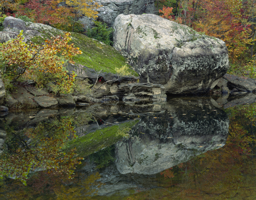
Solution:
M 225 42 L 157 15 L 120 14 L 113 28 L 113 46 L 128 57 L 140 82 L 163 84 L 166 92 L 206 92 L 228 70 Z

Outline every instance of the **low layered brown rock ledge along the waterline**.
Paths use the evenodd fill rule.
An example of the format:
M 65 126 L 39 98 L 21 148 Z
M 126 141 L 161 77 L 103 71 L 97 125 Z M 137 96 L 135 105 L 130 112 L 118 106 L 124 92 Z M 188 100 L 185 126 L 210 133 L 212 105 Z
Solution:
M 0 90 L 1 92 L 1 90 Z M 15 90 L 8 94 L 5 105 L 8 108 L 55 108 L 85 106 L 92 103 L 113 103 L 120 100 L 130 103 L 165 102 L 163 85 L 159 84 L 120 84 L 111 90 L 96 90 L 92 95 L 60 94 L 55 97 L 51 87 L 37 89 L 33 85 L 15 85 Z

